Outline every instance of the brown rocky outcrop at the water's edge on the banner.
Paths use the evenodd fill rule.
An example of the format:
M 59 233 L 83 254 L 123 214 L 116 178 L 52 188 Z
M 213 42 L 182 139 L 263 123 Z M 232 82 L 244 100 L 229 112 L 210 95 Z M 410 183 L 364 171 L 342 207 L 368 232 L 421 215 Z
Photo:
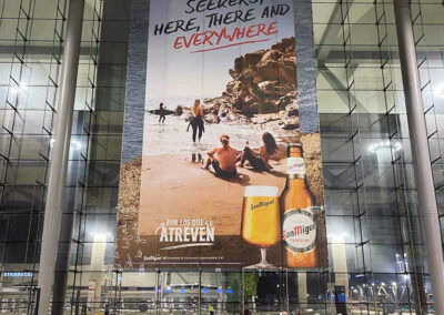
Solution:
M 236 58 L 229 73 L 233 80 L 222 95 L 203 101 L 210 123 L 246 121 L 283 130 L 299 128 L 294 38 Z

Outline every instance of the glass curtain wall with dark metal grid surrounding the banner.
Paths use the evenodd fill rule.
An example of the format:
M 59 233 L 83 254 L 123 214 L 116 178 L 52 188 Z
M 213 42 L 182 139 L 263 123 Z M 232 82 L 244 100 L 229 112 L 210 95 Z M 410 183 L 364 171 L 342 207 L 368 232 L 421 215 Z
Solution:
M 38 299 L 68 3 L 0 0 L 4 314 L 34 314 Z M 58 314 L 194 314 L 212 308 L 234 314 L 244 307 L 252 313 L 340 314 L 334 293 L 343 287 L 345 303 L 337 307 L 349 314 L 433 313 L 393 1 L 385 0 L 312 3 L 327 270 L 113 268 L 130 17 L 139 3 L 85 1 L 52 308 Z M 411 11 L 442 221 L 444 6 L 414 0 Z

